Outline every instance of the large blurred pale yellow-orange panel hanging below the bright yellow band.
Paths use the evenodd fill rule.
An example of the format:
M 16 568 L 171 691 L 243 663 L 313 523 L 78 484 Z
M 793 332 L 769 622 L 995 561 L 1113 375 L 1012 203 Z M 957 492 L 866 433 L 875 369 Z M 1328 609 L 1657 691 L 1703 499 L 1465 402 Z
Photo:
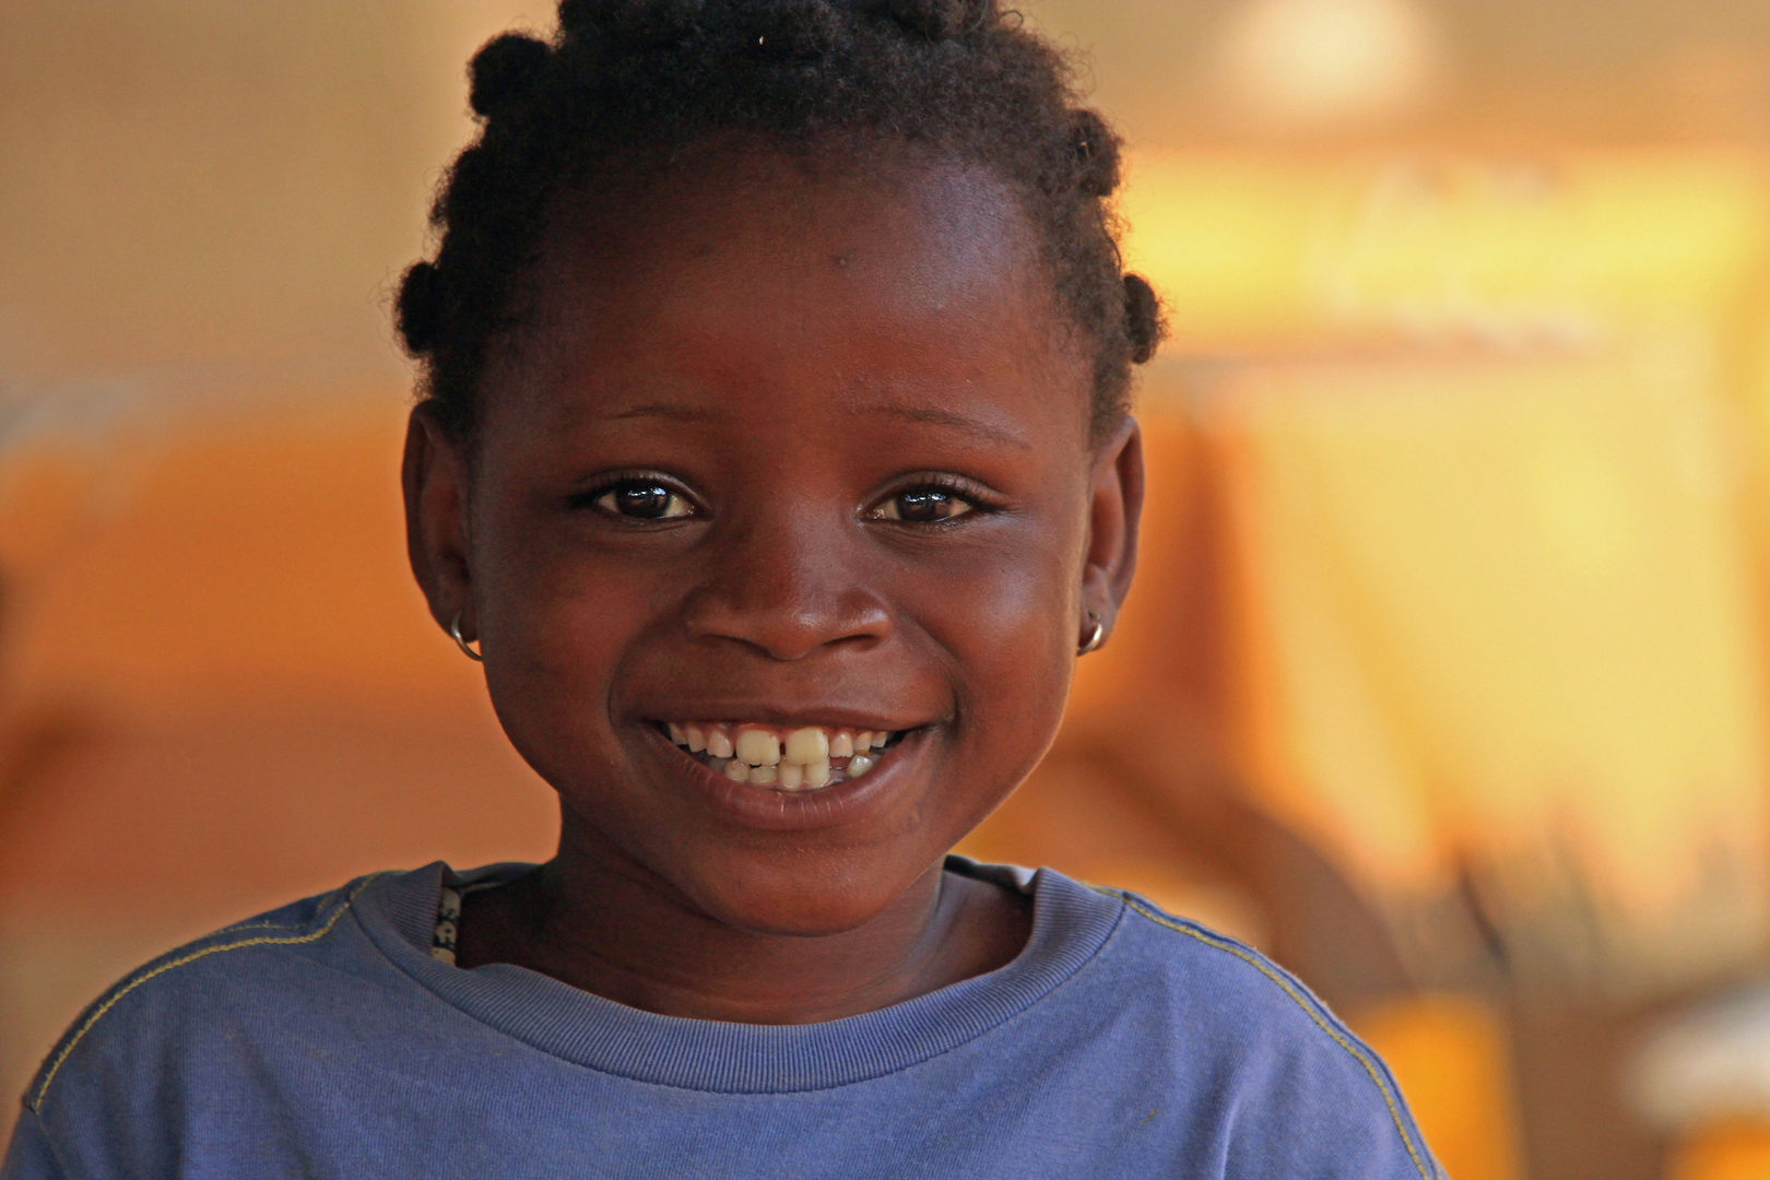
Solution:
M 1701 349 L 1250 366 L 1204 412 L 1262 801 L 1512 969 L 1662 992 L 1770 936 L 1770 692 Z

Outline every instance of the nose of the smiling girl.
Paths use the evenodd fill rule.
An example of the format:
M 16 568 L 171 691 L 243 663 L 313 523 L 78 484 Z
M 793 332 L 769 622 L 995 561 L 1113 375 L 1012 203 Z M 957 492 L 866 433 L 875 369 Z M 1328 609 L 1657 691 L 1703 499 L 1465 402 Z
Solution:
M 699 640 L 804 660 L 890 633 L 890 612 L 862 577 L 864 538 L 839 510 L 798 504 L 735 522 L 706 554 L 703 582 L 685 603 Z

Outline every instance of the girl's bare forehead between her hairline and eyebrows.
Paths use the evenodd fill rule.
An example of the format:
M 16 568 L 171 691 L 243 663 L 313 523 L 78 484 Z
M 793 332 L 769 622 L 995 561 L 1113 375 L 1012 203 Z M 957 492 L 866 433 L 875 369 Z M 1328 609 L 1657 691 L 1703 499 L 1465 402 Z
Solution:
M 490 372 L 527 380 L 496 403 L 515 386 L 550 414 L 936 396 L 1087 418 L 1089 366 L 1012 191 L 903 145 L 722 143 L 586 186 L 552 212 L 527 297 Z

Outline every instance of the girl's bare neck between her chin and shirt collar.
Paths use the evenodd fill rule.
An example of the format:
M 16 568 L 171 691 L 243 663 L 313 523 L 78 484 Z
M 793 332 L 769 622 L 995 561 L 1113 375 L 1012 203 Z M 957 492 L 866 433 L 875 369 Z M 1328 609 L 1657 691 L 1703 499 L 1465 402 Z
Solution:
M 467 897 L 457 962 L 513 962 L 662 1015 L 809 1024 L 993 971 L 1028 929 L 1025 899 L 936 863 L 860 927 L 759 934 L 607 847 L 561 840 L 535 872 Z

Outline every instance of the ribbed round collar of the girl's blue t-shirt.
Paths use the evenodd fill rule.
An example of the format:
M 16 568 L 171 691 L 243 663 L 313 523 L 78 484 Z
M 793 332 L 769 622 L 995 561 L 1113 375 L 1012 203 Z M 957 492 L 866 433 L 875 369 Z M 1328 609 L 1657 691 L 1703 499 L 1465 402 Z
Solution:
M 356 900 L 375 946 L 446 1003 L 543 1053 L 635 1081 L 719 1093 L 789 1093 L 890 1074 L 981 1037 L 1035 1005 L 1106 943 L 1124 902 L 1041 869 L 949 856 L 947 870 L 1032 895 L 1032 936 L 1007 966 L 904 1003 L 823 1024 L 731 1024 L 641 1012 L 556 978 L 430 957 L 439 890 L 529 865 L 453 872 L 442 862 L 373 881 Z

